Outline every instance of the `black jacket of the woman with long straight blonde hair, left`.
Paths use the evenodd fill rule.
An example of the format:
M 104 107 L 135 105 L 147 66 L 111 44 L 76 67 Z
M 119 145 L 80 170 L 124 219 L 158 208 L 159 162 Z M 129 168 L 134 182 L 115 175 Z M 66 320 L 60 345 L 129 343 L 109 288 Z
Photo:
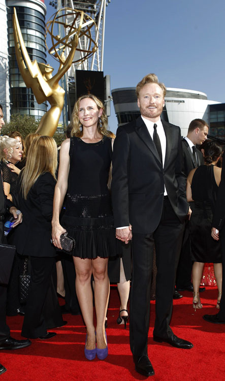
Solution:
M 55 179 L 49 172 L 39 176 L 30 188 L 26 200 L 20 192 L 19 180 L 20 176 L 18 208 L 23 213 L 23 220 L 12 229 L 10 239 L 21 255 L 55 257 L 56 250 L 50 241 Z

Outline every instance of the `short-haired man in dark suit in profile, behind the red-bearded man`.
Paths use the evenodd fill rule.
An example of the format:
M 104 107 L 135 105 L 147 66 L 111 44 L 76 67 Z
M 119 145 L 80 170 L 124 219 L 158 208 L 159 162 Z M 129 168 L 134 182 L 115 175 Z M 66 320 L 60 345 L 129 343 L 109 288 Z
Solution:
M 203 154 L 196 145 L 202 145 L 207 139 L 209 126 L 203 119 L 194 119 L 190 122 L 187 136 L 182 139 L 184 173 L 186 177 L 189 172 L 204 163 Z M 194 208 L 194 203 L 190 203 L 190 208 Z M 190 238 L 189 238 L 189 221 L 185 222 L 183 234 L 182 248 L 176 274 L 176 288 L 178 291 L 193 292 L 191 283 L 192 262 L 190 256 Z M 200 288 L 199 291 L 204 291 Z

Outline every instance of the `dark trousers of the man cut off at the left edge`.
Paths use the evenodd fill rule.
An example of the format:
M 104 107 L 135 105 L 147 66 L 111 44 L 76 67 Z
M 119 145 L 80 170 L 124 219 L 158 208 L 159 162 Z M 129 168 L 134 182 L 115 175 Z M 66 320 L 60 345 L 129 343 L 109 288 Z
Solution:
M 0 242 L 4 239 L 4 224 L 0 221 Z M 0 343 L 8 339 L 10 329 L 6 324 L 6 300 L 7 300 L 7 285 L 0 284 Z

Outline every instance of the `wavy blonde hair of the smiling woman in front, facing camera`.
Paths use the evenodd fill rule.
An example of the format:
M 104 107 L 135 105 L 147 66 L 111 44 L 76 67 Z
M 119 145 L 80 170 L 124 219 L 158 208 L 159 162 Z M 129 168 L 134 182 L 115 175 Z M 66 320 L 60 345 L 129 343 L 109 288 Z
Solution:
M 78 118 L 78 110 L 79 110 L 80 101 L 86 98 L 92 99 L 92 101 L 94 101 L 97 104 L 98 110 L 100 109 L 103 110 L 102 116 L 98 120 L 98 126 L 97 126 L 98 132 L 103 136 L 114 138 L 115 135 L 111 131 L 107 130 L 108 118 L 106 115 L 106 109 L 104 107 L 104 104 L 99 98 L 95 97 L 93 94 L 86 94 L 80 97 L 75 103 L 73 113 L 72 113 L 72 121 L 71 121 L 71 124 L 72 124 L 71 136 L 76 136 L 78 138 L 81 138 L 83 136 L 83 128 L 80 129 L 80 127 L 82 127 L 82 124 L 80 123 L 80 120 Z

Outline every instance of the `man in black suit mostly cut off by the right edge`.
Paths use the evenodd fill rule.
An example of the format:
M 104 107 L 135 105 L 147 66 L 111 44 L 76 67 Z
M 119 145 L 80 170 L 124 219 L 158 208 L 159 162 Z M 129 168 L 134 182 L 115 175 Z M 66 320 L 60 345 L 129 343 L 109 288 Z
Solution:
M 219 304 L 219 312 L 215 315 L 203 315 L 203 319 L 214 324 L 225 324 L 225 154 L 222 158 L 221 181 L 216 200 L 215 211 L 212 219 L 212 237 L 220 239 L 222 250 L 222 296 Z

